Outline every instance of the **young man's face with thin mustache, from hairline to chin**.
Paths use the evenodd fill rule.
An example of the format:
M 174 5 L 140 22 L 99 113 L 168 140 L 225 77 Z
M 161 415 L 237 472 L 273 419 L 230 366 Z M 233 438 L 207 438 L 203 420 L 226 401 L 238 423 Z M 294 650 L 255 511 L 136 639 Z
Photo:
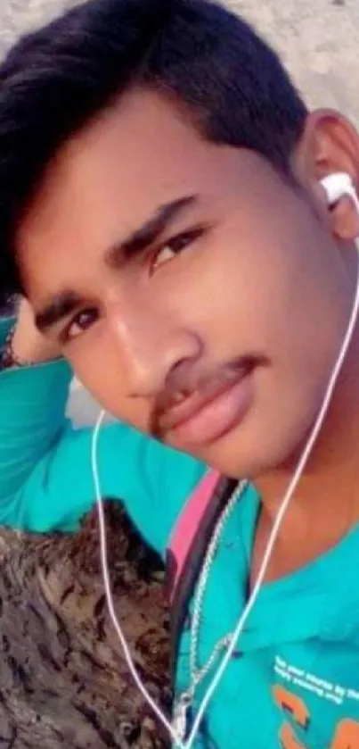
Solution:
M 257 154 L 134 91 L 61 149 L 18 251 L 38 324 L 118 418 L 232 476 L 298 448 L 344 284 L 309 200 Z

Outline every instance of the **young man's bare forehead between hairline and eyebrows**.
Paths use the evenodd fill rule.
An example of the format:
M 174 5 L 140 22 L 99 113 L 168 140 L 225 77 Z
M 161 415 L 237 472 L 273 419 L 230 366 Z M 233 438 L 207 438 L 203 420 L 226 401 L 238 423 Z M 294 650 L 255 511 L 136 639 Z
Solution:
M 45 258 L 72 281 L 69 257 L 71 272 L 83 272 L 85 257 L 137 229 L 159 205 L 186 195 L 208 206 L 238 200 L 261 168 L 253 154 L 209 143 L 164 96 L 130 92 L 69 140 L 45 174 L 17 236 L 25 287 L 45 278 Z

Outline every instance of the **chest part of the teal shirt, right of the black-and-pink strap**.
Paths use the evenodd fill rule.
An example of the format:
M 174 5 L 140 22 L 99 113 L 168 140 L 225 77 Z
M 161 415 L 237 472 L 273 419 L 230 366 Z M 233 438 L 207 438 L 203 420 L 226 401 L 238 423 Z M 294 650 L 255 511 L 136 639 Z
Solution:
M 200 665 L 243 611 L 258 512 L 258 496 L 249 487 L 226 523 L 210 574 Z M 262 587 L 210 703 L 203 747 L 359 748 L 358 568 L 354 528 L 315 562 Z M 189 683 L 190 623 L 191 616 L 180 645 L 177 693 Z M 208 679 L 195 709 L 204 687 Z

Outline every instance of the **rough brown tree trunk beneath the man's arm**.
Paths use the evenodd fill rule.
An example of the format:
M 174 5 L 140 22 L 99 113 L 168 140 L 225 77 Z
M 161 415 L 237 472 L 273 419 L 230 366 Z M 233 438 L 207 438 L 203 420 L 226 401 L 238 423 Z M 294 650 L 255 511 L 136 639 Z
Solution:
M 106 503 L 118 618 L 151 695 L 168 709 L 163 571 Z M 0 533 L 0 749 L 163 747 L 110 625 L 94 514 L 77 536 Z

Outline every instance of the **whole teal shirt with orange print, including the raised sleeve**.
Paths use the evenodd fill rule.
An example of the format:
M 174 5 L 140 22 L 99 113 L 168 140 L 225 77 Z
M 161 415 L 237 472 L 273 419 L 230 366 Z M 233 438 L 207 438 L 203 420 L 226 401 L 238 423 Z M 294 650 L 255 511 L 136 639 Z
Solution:
M 0 322 L 0 345 L 8 325 Z M 94 503 L 93 430 L 74 429 L 64 416 L 70 379 L 65 362 L 0 373 L 3 525 L 74 531 Z M 205 467 L 123 424 L 102 429 L 99 466 L 103 495 L 122 500 L 163 555 Z M 258 510 L 249 487 L 225 525 L 204 598 L 200 664 L 243 610 Z M 208 708 L 199 747 L 358 749 L 358 569 L 354 528 L 312 564 L 262 588 Z M 184 628 L 177 693 L 189 684 L 188 652 Z

